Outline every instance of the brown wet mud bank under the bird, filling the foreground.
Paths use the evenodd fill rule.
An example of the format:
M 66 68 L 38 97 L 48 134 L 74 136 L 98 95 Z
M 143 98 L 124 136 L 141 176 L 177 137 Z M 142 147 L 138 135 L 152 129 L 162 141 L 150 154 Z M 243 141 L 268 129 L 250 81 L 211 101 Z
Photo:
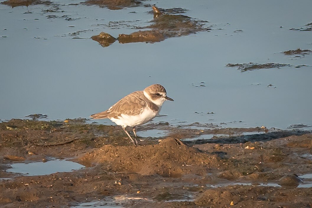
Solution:
M 156 127 L 170 136 L 139 137 L 135 147 L 120 127 L 87 124 L 85 119 L 0 123 L 0 206 L 312 206 L 311 132 L 216 126 L 200 130 L 168 123 L 140 126 L 138 131 Z M 229 137 L 259 133 L 183 141 L 209 131 Z M 55 158 L 85 167 L 39 176 L 9 171 L 12 164 L 44 164 Z

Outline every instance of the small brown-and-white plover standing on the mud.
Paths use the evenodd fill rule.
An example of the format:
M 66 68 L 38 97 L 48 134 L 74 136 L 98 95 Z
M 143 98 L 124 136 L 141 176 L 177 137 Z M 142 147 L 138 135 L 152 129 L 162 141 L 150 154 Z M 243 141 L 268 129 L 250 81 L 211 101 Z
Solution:
M 121 126 L 130 141 L 138 146 L 136 140 L 136 126 L 143 125 L 155 118 L 166 100 L 173 101 L 167 96 L 166 89 L 160 84 L 153 84 L 143 91 L 135 91 L 123 97 L 108 110 L 95 113 L 90 117 L 93 119 L 108 118 L 118 126 Z M 132 127 L 134 140 L 129 135 L 126 127 Z

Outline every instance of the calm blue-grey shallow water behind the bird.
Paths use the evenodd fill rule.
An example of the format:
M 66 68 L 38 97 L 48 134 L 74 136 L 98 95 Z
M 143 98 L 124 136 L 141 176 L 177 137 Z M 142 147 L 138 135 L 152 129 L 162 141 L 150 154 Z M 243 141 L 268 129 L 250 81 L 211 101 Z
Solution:
M 109 10 L 66 6 L 80 1 L 53 2 L 65 4 L 60 6 L 64 12 L 44 13 L 42 10 L 48 7 L 43 5 L 11 8 L 0 4 L 2 120 L 33 113 L 47 114 L 51 120 L 89 117 L 130 92 L 160 83 L 175 101 L 164 103 L 161 113 L 168 116 L 155 121 L 244 121 L 229 125 L 282 129 L 292 124 L 312 124 L 312 68 L 295 68 L 311 66 L 312 54 L 294 57 L 280 53 L 312 49 L 311 31 L 289 30 L 312 21 L 310 0 L 201 0 L 195 4 L 152 0 L 148 3 L 161 8 L 189 9 L 183 15 L 209 21 L 212 30 L 154 44 L 115 42 L 105 48 L 92 39 L 72 37 L 89 38 L 102 31 L 118 37 L 135 32 L 137 29 L 126 25 L 105 25 L 110 21 L 135 21 L 130 26 L 146 26 L 153 19 L 148 13 L 151 8 Z M 67 21 L 47 15 L 79 19 Z M 69 35 L 80 30 L 88 31 Z M 228 63 L 249 62 L 292 67 L 247 72 L 225 67 Z M 201 82 L 205 87 L 195 87 Z M 276 88 L 267 87 L 270 84 Z

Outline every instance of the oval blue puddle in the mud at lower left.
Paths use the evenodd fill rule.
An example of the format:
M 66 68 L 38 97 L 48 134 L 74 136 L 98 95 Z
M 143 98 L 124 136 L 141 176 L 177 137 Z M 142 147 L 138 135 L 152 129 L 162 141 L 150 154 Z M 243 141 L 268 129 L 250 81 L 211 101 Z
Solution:
M 79 163 L 66 160 L 52 160 L 47 162 L 33 162 L 28 164 L 14 163 L 10 166 L 12 168 L 7 169 L 7 172 L 22 173 L 27 176 L 43 176 L 56 172 L 70 172 L 85 167 Z

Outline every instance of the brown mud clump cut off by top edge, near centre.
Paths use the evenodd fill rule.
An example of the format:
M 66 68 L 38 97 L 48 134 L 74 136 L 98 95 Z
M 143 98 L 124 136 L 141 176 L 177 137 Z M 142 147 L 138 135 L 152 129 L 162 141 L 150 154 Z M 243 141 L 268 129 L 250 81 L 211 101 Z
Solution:
M 85 5 L 97 5 L 100 7 L 107 7 L 110 10 L 123 9 L 124 7 L 138 7 L 142 6 L 142 2 L 137 0 L 87 0 L 83 2 Z

